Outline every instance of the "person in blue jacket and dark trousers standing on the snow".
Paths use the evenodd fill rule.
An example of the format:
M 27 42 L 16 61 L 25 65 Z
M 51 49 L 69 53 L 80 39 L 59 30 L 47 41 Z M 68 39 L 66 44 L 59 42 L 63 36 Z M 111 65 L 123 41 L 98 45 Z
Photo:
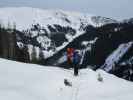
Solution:
M 79 51 L 75 50 L 73 53 L 73 66 L 74 66 L 74 75 L 78 75 L 78 69 L 79 69 L 79 63 L 81 60 L 81 55 L 79 54 Z

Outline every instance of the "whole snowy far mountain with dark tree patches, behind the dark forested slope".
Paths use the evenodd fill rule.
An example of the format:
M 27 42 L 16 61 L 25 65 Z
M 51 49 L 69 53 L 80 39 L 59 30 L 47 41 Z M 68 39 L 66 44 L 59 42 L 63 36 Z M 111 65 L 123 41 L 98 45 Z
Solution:
M 110 18 L 63 10 L 43 10 L 30 7 L 0 8 L 1 26 L 16 28 L 24 33 L 24 36 L 18 34 L 18 45 L 28 45 L 30 54 L 31 47 L 36 47 L 37 53 L 38 48 L 41 48 L 45 54 L 47 53 L 46 58 L 53 55 L 55 50 L 59 51 L 74 38 L 83 34 L 86 26 L 99 27 L 116 22 Z

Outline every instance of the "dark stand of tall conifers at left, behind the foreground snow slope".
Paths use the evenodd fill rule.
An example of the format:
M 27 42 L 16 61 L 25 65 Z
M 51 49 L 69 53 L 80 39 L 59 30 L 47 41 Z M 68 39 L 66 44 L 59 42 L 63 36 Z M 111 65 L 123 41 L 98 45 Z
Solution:
M 8 25 L 9 26 L 9 25 Z M 29 62 L 28 48 L 19 48 L 16 39 L 17 30 L 0 25 L 0 57 L 21 62 Z

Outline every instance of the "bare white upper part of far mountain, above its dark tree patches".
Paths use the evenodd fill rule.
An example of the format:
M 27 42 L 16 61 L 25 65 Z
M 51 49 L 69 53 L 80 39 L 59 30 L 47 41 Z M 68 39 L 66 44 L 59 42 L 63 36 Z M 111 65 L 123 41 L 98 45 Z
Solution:
M 100 26 L 108 23 L 116 23 L 116 20 L 82 14 L 78 12 L 68 12 L 63 10 L 43 10 L 30 7 L 7 7 L 0 8 L 0 21 L 4 25 L 8 23 L 16 24 L 20 31 L 31 28 L 32 24 L 39 24 L 49 32 L 48 25 L 70 26 L 76 31 L 86 25 Z M 82 30 L 82 29 L 81 29 Z

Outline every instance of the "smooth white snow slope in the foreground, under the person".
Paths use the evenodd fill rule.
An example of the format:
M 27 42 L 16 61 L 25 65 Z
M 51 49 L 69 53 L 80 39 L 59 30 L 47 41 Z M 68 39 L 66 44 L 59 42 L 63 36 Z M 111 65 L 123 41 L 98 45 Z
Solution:
M 103 82 L 97 80 L 97 74 Z M 64 79 L 72 87 L 64 85 Z M 104 71 L 44 67 L 0 59 L 0 100 L 133 100 L 133 83 Z

